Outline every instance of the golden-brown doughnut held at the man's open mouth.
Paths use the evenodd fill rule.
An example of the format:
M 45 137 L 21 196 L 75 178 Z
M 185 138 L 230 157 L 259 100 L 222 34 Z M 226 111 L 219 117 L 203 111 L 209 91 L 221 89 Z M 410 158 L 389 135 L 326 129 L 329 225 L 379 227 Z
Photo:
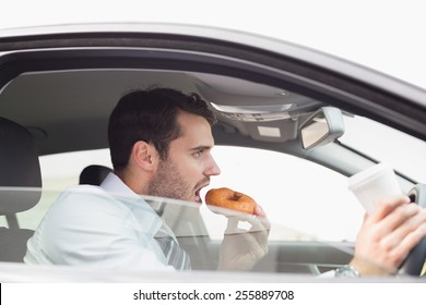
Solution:
M 205 194 L 205 203 L 211 206 L 256 213 L 258 204 L 253 198 L 227 187 L 212 188 Z

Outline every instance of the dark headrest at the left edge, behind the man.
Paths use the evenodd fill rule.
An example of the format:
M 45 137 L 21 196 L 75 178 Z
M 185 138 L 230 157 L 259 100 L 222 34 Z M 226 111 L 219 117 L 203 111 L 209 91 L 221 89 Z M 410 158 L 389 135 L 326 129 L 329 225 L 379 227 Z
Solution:
M 9 186 L 42 187 L 42 172 L 31 133 L 20 124 L 0 118 L 0 215 L 29 209 L 42 195 L 40 190 L 12 192 Z

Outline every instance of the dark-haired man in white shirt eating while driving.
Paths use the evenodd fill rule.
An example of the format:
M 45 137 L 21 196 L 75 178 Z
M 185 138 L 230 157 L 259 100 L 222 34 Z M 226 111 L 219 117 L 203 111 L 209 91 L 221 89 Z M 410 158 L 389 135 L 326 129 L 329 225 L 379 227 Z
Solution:
M 221 172 L 211 155 L 214 122 L 198 96 L 162 88 L 123 96 L 108 126 L 114 173 L 99 187 L 62 193 L 28 241 L 25 261 L 190 269 L 173 232 L 139 195 L 201 204 L 200 190 Z M 259 210 L 246 221 L 249 231 L 225 234 L 218 269 L 251 269 L 267 253 L 268 218 Z M 229 218 L 227 232 L 238 231 L 237 222 Z M 405 198 L 383 203 L 365 220 L 351 268 L 363 276 L 393 272 L 426 234 L 425 222 L 425 212 Z

